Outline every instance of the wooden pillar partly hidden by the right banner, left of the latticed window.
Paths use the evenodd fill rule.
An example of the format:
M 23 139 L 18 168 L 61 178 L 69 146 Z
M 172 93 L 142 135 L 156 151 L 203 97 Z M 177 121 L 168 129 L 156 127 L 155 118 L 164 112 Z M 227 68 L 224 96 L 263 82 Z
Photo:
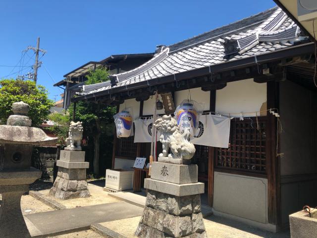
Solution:
M 214 112 L 216 107 L 216 90 L 210 91 L 210 111 Z M 213 206 L 213 168 L 214 165 L 214 147 L 208 148 L 208 204 Z

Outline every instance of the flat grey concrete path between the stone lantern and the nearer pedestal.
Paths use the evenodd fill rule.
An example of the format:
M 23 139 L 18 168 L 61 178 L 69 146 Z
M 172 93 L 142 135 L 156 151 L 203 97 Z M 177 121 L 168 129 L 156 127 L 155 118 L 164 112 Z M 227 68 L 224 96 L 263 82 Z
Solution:
M 115 202 L 63 209 L 25 216 L 32 237 L 46 237 L 89 229 L 90 225 L 141 216 L 143 208 L 127 202 Z

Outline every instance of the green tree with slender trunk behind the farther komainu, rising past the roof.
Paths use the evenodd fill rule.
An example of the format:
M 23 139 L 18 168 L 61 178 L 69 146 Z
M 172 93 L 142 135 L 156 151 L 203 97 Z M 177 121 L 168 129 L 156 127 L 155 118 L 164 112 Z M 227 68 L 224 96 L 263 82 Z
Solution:
M 87 75 L 86 84 L 101 83 L 109 80 L 108 71 L 105 67 L 98 67 L 90 71 Z M 69 114 L 72 115 L 73 107 L 69 107 Z M 94 174 L 99 175 L 99 160 L 100 160 L 100 143 L 106 142 L 106 145 L 112 145 L 109 138 L 113 138 L 113 116 L 116 113 L 116 108 L 106 106 L 94 102 L 80 101 L 76 104 L 75 120 L 83 122 L 84 129 L 88 136 L 94 138 Z M 101 134 L 103 138 L 101 141 Z M 110 149 L 109 146 L 109 149 Z M 112 150 L 111 150 L 112 151 Z

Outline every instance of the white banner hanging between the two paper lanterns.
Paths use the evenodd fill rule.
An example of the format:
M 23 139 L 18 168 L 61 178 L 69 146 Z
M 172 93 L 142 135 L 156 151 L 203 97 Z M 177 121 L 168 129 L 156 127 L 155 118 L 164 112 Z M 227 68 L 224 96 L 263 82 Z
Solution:
M 134 120 L 134 143 L 152 142 L 153 118 Z M 157 141 L 159 141 L 159 132 L 157 132 Z

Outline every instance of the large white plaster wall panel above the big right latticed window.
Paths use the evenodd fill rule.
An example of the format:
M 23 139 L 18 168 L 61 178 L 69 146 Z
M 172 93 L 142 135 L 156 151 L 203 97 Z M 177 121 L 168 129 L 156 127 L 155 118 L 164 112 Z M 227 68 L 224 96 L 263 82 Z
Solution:
M 227 83 L 216 91 L 215 110 L 219 113 L 257 112 L 262 106 L 262 110 L 266 110 L 266 83 L 255 83 L 252 78 Z M 244 116 L 255 117 L 256 114 Z

